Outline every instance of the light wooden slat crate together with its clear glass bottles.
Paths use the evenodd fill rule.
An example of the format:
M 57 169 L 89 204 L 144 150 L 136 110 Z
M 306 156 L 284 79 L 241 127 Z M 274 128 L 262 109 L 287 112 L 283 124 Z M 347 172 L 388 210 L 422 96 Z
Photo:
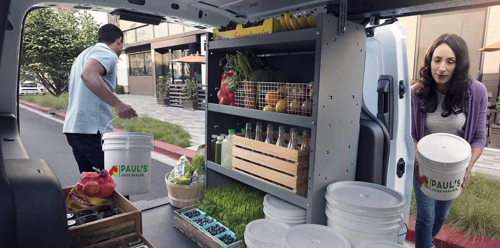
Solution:
M 262 132 L 257 122 L 256 132 L 246 124 L 246 133 L 232 137 L 232 170 L 274 185 L 297 195 L 307 193 L 310 135 L 298 135 L 295 128 L 285 133 L 280 126 L 277 134 L 272 124 Z

